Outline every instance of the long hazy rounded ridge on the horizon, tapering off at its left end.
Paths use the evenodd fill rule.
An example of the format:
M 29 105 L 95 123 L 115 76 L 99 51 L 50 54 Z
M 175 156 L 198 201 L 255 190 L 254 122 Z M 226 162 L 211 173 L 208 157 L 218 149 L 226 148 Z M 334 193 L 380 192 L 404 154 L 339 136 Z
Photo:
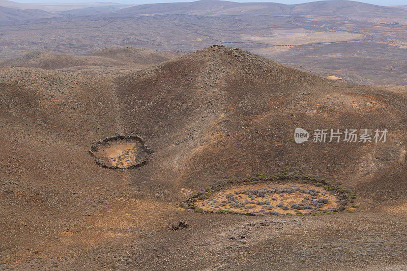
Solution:
M 351 17 L 405 17 L 405 10 L 397 7 L 383 7 L 355 1 L 316 1 L 311 3 L 285 5 L 278 3 L 236 3 L 218 0 L 201 0 L 195 2 L 160 3 L 138 5 L 125 8 L 117 13 L 126 15 L 152 14 L 218 14 L 218 15 L 322 15 Z

